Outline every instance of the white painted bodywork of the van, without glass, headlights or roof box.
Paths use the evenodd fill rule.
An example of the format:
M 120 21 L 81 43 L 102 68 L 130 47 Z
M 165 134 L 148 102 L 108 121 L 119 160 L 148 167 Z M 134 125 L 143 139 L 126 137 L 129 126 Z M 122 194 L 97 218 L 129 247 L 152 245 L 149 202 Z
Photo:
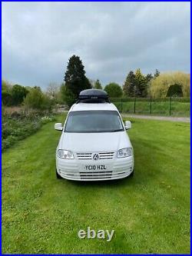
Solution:
M 110 103 L 78 103 L 74 104 L 70 111 L 91 111 L 91 110 L 114 110 L 118 109 Z M 120 115 L 120 114 L 119 114 Z M 121 116 L 121 115 L 120 115 Z M 68 118 L 68 117 L 67 117 Z M 65 124 L 67 121 L 65 120 Z M 122 119 L 121 119 L 122 121 Z M 122 121 L 123 123 L 123 121 Z M 131 128 L 131 122 L 126 121 L 124 131 L 101 132 L 101 133 L 68 133 L 65 132 L 65 124 L 62 127 L 60 123 L 55 124 L 55 129 L 61 130 L 61 138 L 56 150 L 56 169 L 62 178 L 79 181 L 98 181 L 125 178 L 131 175 L 134 170 L 134 155 L 126 158 L 117 158 L 118 150 L 121 148 L 132 148 L 131 141 L 125 128 Z M 74 159 L 58 158 L 58 149 L 73 151 Z M 94 160 L 94 153 L 114 152 L 111 158 Z M 91 154 L 91 159 L 79 159 L 78 153 Z M 106 154 L 108 156 L 108 154 Z M 86 166 L 96 166 L 101 168 L 105 166 L 106 170 L 86 170 Z

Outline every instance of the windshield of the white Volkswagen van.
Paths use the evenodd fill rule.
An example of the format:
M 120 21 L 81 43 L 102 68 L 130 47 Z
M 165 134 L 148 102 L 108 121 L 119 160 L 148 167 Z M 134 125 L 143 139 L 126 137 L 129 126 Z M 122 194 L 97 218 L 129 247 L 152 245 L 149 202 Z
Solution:
M 118 111 L 72 111 L 65 132 L 124 131 Z

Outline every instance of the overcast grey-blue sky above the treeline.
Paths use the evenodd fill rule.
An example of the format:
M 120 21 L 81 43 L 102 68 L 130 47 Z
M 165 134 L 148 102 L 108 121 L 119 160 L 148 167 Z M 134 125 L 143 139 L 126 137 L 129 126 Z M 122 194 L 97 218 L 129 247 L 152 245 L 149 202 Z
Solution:
M 46 88 L 79 55 L 88 78 L 190 72 L 189 2 L 2 2 L 2 78 Z

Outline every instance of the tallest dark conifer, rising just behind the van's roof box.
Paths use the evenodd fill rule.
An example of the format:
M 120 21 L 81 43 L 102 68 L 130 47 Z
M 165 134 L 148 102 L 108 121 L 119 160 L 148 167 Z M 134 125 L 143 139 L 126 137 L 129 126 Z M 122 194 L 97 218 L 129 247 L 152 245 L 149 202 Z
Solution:
M 66 92 L 73 97 L 71 102 L 78 98 L 80 91 L 91 88 L 91 84 L 85 76 L 84 65 L 81 59 L 75 55 L 69 58 L 64 80 Z

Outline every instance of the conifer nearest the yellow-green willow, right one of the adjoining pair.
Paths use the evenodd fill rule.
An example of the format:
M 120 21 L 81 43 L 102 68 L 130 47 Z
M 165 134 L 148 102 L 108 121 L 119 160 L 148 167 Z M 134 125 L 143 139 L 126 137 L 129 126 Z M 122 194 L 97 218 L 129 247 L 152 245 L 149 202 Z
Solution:
M 140 68 L 137 68 L 135 72 L 135 95 L 137 97 L 147 97 L 147 80 L 141 73 Z

